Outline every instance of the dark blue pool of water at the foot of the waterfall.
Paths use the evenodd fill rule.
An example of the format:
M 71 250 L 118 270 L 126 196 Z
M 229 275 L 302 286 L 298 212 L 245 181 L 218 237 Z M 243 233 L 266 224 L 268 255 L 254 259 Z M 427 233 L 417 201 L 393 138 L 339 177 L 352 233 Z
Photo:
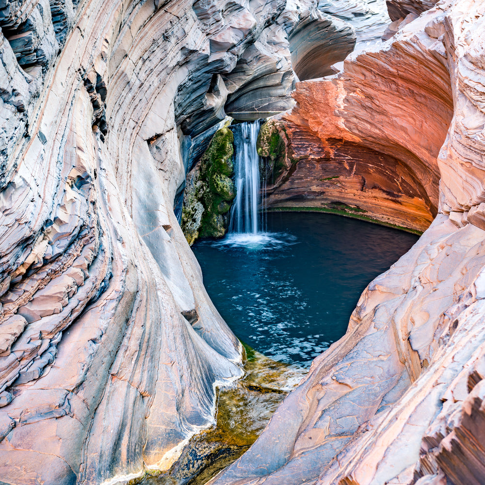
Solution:
M 275 212 L 267 232 L 196 242 L 205 287 L 245 344 L 309 367 L 347 330 L 370 281 L 418 236 L 332 214 Z

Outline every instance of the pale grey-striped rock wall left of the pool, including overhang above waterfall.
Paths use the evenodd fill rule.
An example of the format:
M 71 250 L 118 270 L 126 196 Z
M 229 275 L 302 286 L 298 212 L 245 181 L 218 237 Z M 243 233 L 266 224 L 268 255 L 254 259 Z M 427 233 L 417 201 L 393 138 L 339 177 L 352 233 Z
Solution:
M 288 39 L 302 22 L 343 36 L 327 63 L 350 50 L 353 11 L 356 28 L 383 30 L 367 1 L 342 10 L 0 1 L 2 482 L 168 469 L 214 422 L 242 347 L 174 206 L 226 105 L 259 117 L 294 103 Z

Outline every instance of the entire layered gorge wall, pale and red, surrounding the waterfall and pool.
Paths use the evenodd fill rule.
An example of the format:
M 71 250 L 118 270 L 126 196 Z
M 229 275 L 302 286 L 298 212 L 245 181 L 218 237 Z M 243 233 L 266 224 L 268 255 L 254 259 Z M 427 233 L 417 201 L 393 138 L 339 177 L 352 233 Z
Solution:
M 480 483 L 485 12 L 388 3 L 376 48 L 364 0 L 0 2 L 0 480 L 167 469 L 214 422 L 242 348 L 178 225 L 186 172 L 226 113 L 294 106 L 271 203 L 433 223 L 214 483 Z

